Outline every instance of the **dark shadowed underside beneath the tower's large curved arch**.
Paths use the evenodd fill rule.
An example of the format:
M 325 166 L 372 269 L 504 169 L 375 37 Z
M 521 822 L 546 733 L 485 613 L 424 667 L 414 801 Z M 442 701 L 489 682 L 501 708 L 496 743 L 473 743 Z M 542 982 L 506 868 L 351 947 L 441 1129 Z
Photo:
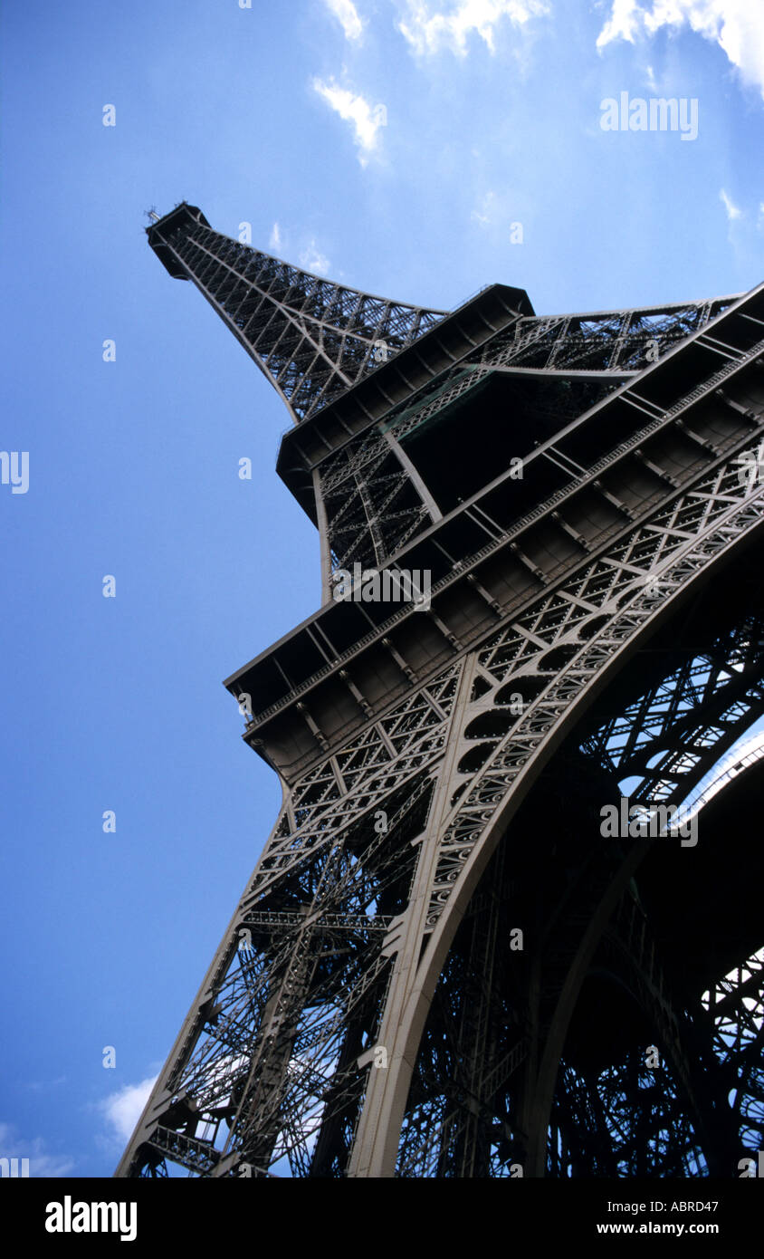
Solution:
M 743 559 L 646 643 L 512 818 L 435 988 L 396 1175 L 731 1177 L 761 1147 L 760 768 L 695 845 L 600 835 L 621 797 L 681 805 L 764 715 L 758 572 Z

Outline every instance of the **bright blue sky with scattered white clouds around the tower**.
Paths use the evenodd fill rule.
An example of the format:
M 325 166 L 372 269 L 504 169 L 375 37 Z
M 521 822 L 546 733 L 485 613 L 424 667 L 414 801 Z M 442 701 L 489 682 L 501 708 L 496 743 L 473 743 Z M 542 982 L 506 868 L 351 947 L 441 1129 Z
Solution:
M 553 313 L 764 272 L 751 0 L 242 3 L 0 19 L 0 447 L 29 452 L 26 492 L 0 485 L 0 1156 L 33 1176 L 113 1171 L 281 801 L 220 682 L 320 601 L 274 472 L 287 413 L 143 212 L 188 199 L 444 308 L 492 281 Z M 603 130 L 622 92 L 695 99 L 697 137 Z

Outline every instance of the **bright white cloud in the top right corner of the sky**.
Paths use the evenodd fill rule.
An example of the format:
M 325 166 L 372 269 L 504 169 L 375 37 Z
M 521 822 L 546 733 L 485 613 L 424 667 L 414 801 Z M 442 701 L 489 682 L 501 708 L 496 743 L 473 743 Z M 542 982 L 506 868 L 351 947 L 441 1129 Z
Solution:
M 638 0 L 610 0 L 610 16 L 597 39 L 599 49 L 615 39 L 629 43 L 639 35 L 654 35 L 662 26 L 675 31 L 690 26 L 719 44 L 745 83 L 755 84 L 764 97 L 764 6 L 755 0 L 652 0 L 644 9 Z

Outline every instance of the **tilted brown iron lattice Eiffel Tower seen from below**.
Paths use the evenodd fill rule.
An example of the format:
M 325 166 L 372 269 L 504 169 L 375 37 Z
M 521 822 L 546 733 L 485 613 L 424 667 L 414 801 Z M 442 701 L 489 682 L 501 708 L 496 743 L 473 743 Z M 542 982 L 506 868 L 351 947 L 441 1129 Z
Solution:
M 116 1175 L 740 1176 L 764 285 L 449 313 L 146 230 L 291 412 L 323 602 L 225 681 L 284 802 Z

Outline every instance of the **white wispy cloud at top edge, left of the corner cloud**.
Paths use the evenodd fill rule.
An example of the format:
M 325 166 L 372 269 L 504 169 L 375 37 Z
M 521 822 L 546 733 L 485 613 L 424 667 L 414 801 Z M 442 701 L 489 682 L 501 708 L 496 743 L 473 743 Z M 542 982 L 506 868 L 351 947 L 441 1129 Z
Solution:
M 495 52 L 493 31 L 502 18 L 524 26 L 531 18 L 549 13 L 545 0 L 452 0 L 447 11 L 433 11 L 432 0 L 404 0 L 405 16 L 398 24 L 402 35 L 419 55 L 451 48 L 459 57 L 467 52 L 467 39 L 480 35 Z M 443 0 L 437 0 L 442 4 Z

